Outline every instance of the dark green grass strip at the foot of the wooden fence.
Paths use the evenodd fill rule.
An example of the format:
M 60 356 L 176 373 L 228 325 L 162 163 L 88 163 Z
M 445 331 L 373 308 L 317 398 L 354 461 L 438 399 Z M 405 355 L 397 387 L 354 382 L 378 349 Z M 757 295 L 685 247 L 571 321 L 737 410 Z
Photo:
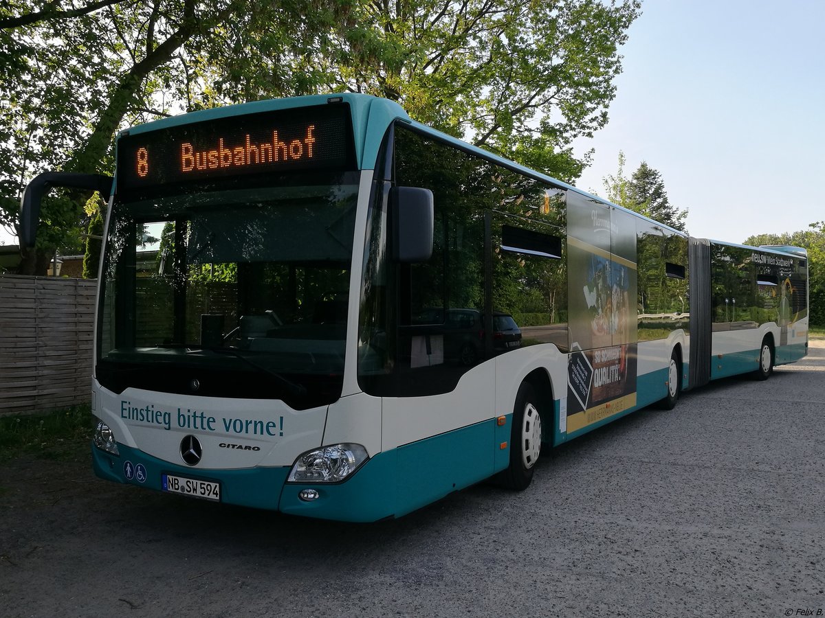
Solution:
M 0 418 L 0 461 L 24 454 L 77 460 L 88 451 L 91 436 L 89 405 L 45 415 Z

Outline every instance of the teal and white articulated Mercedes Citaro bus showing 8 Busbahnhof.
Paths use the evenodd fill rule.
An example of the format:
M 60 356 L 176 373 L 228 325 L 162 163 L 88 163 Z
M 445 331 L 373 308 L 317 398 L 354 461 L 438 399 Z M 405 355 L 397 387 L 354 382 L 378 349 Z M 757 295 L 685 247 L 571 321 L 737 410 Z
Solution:
M 794 247 L 687 236 L 345 94 L 123 131 L 92 453 L 104 479 L 398 517 L 543 447 L 808 349 Z

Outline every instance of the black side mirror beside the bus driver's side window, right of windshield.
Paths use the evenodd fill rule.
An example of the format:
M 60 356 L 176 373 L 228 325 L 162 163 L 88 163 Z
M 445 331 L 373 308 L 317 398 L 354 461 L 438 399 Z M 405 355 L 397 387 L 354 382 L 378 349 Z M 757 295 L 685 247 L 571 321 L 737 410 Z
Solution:
M 432 191 L 418 187 L 389 190 L 393 222 L 393 258 L 398 262 L 426 262 L 432 255 Z

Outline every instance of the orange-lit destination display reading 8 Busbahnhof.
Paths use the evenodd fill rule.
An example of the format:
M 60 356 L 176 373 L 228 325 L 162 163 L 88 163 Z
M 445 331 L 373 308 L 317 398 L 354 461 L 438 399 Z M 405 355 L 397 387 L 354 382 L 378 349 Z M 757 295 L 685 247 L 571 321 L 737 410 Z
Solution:
M 354 167 L 349 105 L 207 120 L 118 141 L 117 191 Z

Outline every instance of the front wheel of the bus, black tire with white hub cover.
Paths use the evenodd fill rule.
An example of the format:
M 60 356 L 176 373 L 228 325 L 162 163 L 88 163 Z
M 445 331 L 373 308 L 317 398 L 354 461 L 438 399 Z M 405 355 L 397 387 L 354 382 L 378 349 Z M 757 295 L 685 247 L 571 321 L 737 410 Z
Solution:
M 530 486 L 541 452 L 541 414 L 535 389 L 522 382 L 513 407 L 510 433 L 510 466 L 502 472 L 502 485 L 521 491 Z

